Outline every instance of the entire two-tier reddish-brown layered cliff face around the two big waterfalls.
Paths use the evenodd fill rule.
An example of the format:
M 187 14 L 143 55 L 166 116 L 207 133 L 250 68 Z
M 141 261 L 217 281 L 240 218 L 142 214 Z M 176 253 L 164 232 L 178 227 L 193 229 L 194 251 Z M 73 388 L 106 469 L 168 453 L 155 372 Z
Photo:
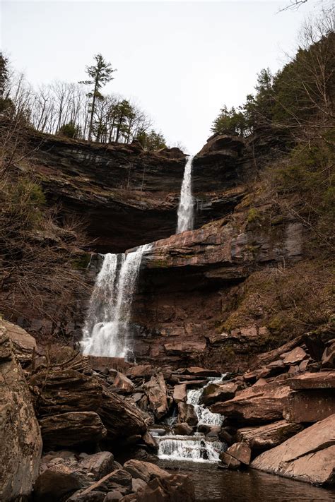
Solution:
M 244 370 L 254 354 L 307 325 L 295 323 L 295 315 L 314 306 L 284 297 L 281 284 L 288 281 L 289 293 L 306 289 L 300 280 L 310 273 L 306 229 L 254 180 L 252 148 L 213 136 L 194 157 L 196 228 L 174 235 L 184 162 L 176 149 L 145 153 L 138 145 L 57 138 L 45 138 L 35 152 L 49 201 L 86 216 L 93 248 L 118 252 L 153 242 L 133 306 L 136 360 Z M 83 270 L 91 287 L 98 261 Z M 68 340 L 81 337 L 89 289 L 79 292 L 76 310 L 61 324 Z M 322 297 L 318 290 L 313 295 Z M 49 329 L 22 311 L 16 321 L 30 333 Z M 52 330 L 59 332 L 57 324 Z

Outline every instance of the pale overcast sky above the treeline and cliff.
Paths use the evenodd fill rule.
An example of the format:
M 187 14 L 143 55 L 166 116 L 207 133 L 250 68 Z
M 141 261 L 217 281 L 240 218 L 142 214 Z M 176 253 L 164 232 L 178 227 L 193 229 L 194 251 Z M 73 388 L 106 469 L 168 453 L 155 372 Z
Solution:
M 261 68 L 293 52 L 312 0 L 2 1 L 1 49 L 33 83 L 86 78 L 101 52 L 117 68 L 105 92 L 136 100 L 167 142 L 196 153 L 223 104 L 242 104 Z

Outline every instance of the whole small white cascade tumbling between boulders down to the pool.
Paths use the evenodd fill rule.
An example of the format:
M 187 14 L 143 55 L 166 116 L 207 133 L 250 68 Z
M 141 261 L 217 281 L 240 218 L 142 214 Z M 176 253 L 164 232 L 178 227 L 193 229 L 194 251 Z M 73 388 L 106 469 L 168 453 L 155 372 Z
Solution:
M 212 413 L 208 408 L 199 403 L 204 393 L 204 388 L 210 383 L 221 383 L 221 378 L 208 378 L 204 387 L 187 390 L 187 404 L 194 407 L 198 426 L 221 426 L 224 417 L 218 413 Z M 175 417 L 174 417 L 175 418 Z M 155 436 L 158 444 L 158 458 L 162 460 L 189 460 L 193 462 L 218 462 L 219 455 L 225 450 L 225 444 L 218 437 L 207 437 L 201 432 L 194 436 L 167 435 Z

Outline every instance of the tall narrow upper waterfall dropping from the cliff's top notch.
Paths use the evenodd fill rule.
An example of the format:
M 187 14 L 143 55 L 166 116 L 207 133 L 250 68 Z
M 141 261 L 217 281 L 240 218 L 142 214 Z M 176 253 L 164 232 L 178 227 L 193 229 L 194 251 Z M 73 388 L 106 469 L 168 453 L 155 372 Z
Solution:
M 182 190 L 180 191 L 177 234 L 193 229 L 194 198 L 192 196 L 192 162 L 193 157 L 189 156 L 184 169 Z

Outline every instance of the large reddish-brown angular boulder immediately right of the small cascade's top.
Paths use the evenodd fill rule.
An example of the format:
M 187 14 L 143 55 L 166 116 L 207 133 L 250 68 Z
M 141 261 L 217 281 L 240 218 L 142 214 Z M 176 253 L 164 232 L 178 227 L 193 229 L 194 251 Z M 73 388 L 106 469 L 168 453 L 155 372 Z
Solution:
M 221 413 L 240 425 L 265 424 L 283 418 L 283 408 L 290 388 L 277 383 L 240 390 L 235 398 L 211 405 L 213 413 Z

